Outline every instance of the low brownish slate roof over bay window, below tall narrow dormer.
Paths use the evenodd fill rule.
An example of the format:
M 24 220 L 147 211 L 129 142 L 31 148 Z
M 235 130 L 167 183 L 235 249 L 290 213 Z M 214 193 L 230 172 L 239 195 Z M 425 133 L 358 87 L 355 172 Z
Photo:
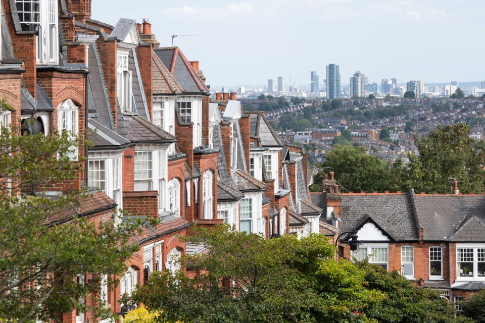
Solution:
M 175 136 L 140 116 L 129 121 L 128 139 L 132 142 L 175 142 Z

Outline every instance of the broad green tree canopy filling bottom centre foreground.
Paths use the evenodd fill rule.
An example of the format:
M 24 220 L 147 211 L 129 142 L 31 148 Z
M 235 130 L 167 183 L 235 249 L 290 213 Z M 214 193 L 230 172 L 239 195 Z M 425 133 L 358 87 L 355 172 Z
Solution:
M 217 226 L 195 228 L 186 237 L 210 245 L 207 254 L 187 255 L 195 275 L 154 272 L 130 299 L 160 320 L 192 323 L 455 321 L 453 305 L 437 292 L 413 286 L 396 271 L 366 262 L 334 259 L 322 235 L 298 239 Z M 359 311 L 362 315 L 354 315 Z M 465 322 L 462 318 L 458 321 Z M 469 322 L 469 320 L 468 320 Z

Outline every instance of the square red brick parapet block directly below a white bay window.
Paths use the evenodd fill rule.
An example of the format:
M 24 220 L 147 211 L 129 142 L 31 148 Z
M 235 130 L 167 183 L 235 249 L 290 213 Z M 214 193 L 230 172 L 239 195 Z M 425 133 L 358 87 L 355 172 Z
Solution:
M 123 209 L 132 216 L 158 218 L 158 192 L 123 191 Z

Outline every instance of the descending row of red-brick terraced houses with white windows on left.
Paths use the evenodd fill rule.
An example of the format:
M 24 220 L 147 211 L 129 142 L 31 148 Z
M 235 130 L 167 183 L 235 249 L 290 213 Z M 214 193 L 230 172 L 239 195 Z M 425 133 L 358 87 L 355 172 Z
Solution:
M 204 252 L 178 239 L 194 224 L 227 223 L 268 239 L 320 230 L 306 153 L 283 145 L 263 113 L 244 113 L 235 93 L 211 100 L 199 62 L 160 47 L 147 21 L 92 20 L 90 0 L 2 0 L 1 10 L 0 96 L 13 111 L 0 123 L 36 120 L 45 135 L 67 130 L 92 142 L 70 151 L 73 161 L 86 157 L 77 179 L 44 194 L 88 186 L 81 217 L 123 221 L 111 220 L 122 208 L 162 220 L 133 237 L 139 252 L 117 288 L 103 291 L 114 312 L 151 272 Z M 64 322 L 93 319 L 62 314 Z

